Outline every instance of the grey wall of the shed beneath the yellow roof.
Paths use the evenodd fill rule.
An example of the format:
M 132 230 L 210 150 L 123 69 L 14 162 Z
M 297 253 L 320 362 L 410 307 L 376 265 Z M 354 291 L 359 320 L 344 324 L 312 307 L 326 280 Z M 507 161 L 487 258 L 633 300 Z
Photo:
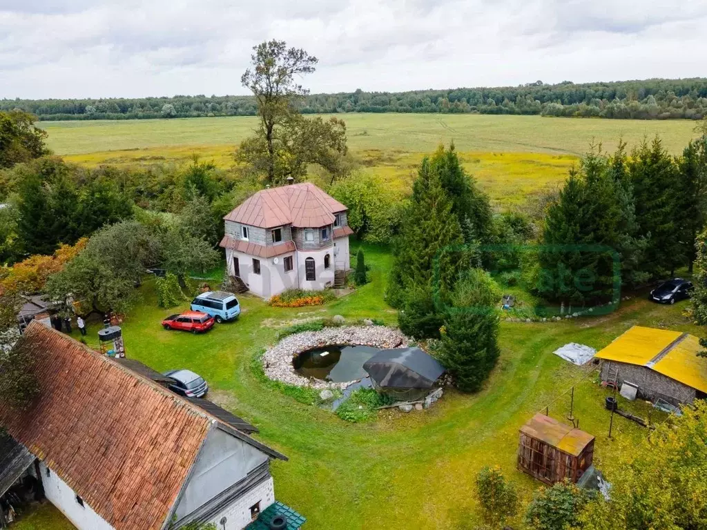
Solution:
M 602 381 L 613 381 L 614 373 L 619 368 L 619 382 L 628 381 L 638 385 L 638 396 L 655 401 L 665 399 L 673 405 L 692 403 L 696 396 L 694 388 L 670 379 L 645 366 L 619 363 L 615 360 L 602 360 Z

